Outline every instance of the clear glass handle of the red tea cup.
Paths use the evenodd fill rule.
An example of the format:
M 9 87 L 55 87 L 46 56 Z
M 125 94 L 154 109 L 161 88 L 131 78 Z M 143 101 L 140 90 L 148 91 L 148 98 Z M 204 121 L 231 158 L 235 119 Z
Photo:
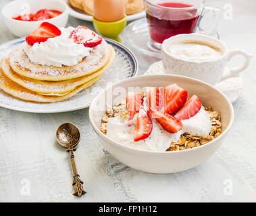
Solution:
M 207 34 L 209 36 L 212 36 L 213 34 L 217 33 L 216 28 L 217 28 L 217 23 L 220 20 L 220 12 L 221 12 L 221 9 L 218 7 L 209 7 L 209 6 L 203 7 L 201 18 L 198 24 L 198 30 L 200 34 Z M 211 16 L 213 17 L 213 22 L 211 22 L 211 28 L 209 30 L 206 30 L 205 27 L 202 26 L 202 20 L 204 20 L 204 17 L 206 14 L 211 14 Z

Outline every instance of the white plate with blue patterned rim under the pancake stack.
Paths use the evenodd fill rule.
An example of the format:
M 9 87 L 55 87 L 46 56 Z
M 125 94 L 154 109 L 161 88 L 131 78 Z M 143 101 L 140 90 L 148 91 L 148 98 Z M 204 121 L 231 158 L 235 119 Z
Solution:
M 14 47 L 20 45 L 24 41 L 24 38 L 18 38 L 14 41 L 9 41 L 0 45 L 0 59 L 5 57 L 11 49 L 14 49 Z M 89 107 L 93 98 L 99 91 L 103 90 L 103 88 L 119 80 L 136 76 L 138 73 L 138 61 L 128 48 L 109 38 L 105 38 L 105 41 L 113 46 L 116 51 L 116 57 L 109 70 L 107 70 L 92 86 L 78 92 L 70 99 L 57 103 L 22 101 L 11 97 L 9 94 L 3 92 L 3 90 L 0 90 L 0 107 L 30 113 L 60 113 Z

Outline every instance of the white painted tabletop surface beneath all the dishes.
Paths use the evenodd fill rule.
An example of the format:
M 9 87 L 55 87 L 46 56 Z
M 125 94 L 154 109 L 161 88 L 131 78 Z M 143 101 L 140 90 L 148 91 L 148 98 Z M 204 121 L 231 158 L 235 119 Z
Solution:
M 232 4 L 233 20 L 220 22 L 220 37 L 230 49 L 242 48 L 255 55 L 256 1 L 208 2 Z M 0 8 L 5 3 L 6 0 L 0 1 Z M 90 22 L 70 17 L 68 25 L 78 24 L 92 27 Z M 0 20 L 0 43 L 14 38 Z M 231 65 L 239 61 L 234 60 Z M 241 75 L 244 88 L 233 104 L 234 124 L 225 143 L 202 165 L 180 173 L 143 173 L 111 157 L 93 132 L 88 109 L 37 114 L 0 108 L 0 201 L 255 202 L 255 68 L 253 57 Z M 82 134 L 75 152 L 76 165 L 87 191 L 82 198 L 72 196 L 70 157 L 55 142 L 57 126 L 67 121 L 76 124 Z

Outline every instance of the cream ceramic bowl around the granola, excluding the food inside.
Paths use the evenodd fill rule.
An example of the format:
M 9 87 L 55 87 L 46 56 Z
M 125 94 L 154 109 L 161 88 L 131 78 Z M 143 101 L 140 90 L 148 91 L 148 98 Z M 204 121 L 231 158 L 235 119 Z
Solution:
M 108 107 L 111 107 L 118 99 L 122 98 L 120 97 L 120 92 L 124 94 L 130 87 L 134 87 L 136 90 L 136 88 L 141 89 L 146 86 L 161 87 L 174 83 L 188 90 L 188 96 L 197 94 L 201 99 L 202 105 L 211 107 L 214 111 L 220 113 L 222 132 L 218 134 L 219 136 L 205 144 L 182 151 L 158 152 L 132 148 L 121 142 L 109 139 L 101 132 L 102 116 Z M 185 76 L 165 74 L 136 76 L 108 86 L 91 103 L 89 118 L 105 150 L 120 162 L 134 169 L 149 173 L 174 173 L 200 165 L 217 151 L 232 126 L 234 110 L 227 97 L 220 90 L 206 82 Z M 111 128 L 107 128 L 107 130 L 111 130 Z

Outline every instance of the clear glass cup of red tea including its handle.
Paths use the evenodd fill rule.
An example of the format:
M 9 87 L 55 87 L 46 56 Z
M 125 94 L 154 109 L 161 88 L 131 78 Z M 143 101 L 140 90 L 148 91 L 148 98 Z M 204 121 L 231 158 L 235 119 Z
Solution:
M 213 12 L 214 22 L 211 22 L 212 28 L 207 32 L 213 34 L 217 27 L 217 17 L 220 14 L 220 9 L 205 7 L 204 3 L 203 0 L 146 0 L 145 7 L 151 47 L 161 49 L 161 43 L 171 36 L 194 33 L 197 27 L 200 28 L 201 18 L 209 11 Z M 199 31 L 205 33 L 202 28 Z

